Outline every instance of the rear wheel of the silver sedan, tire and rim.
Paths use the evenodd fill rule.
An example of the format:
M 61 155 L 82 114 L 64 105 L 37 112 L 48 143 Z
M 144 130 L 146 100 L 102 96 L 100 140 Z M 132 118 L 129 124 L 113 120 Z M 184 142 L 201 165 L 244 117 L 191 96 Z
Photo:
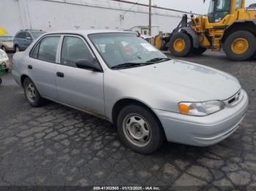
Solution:
M 43 99 L 39 94 L 37 87 L 28 77 L 23 82 L 23 90 L 29 104 L 34 107 L 41 106 Z

